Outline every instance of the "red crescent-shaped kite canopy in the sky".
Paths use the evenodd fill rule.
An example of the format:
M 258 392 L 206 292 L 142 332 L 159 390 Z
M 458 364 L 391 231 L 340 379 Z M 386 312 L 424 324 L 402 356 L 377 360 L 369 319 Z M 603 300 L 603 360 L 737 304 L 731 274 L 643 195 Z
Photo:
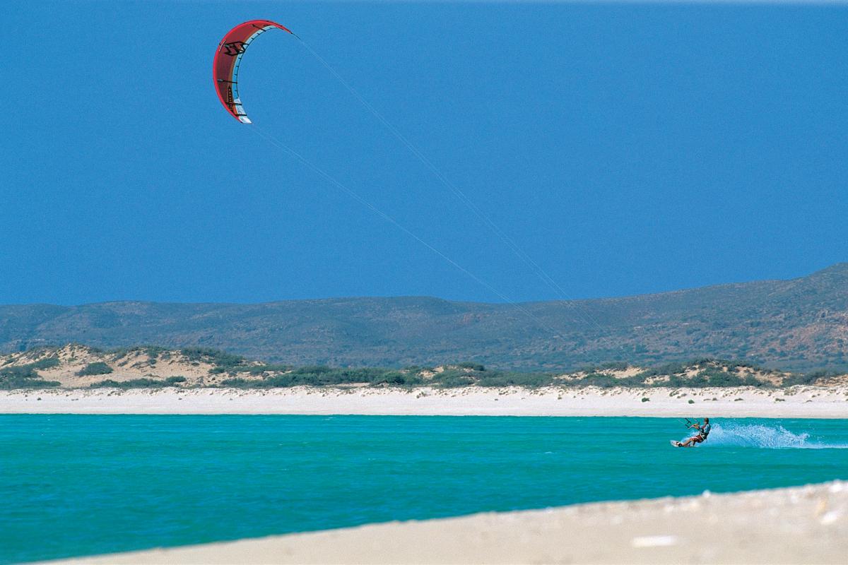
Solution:
M 274 28 L 292 33 L 292 30 L 268 19 L 251 19 L 227 32 L 215 52 L 215 61 L 212 63 L 215 91 L 218 92 L 220 103 L 224 104 L 226 111 L 243 124 L 249 124 L 250 119 L 244 112 L 242 100 L 238 97 L 238 66 L 242 64 L 242 55 L 250 42 L 254 41 L 256 36 Z

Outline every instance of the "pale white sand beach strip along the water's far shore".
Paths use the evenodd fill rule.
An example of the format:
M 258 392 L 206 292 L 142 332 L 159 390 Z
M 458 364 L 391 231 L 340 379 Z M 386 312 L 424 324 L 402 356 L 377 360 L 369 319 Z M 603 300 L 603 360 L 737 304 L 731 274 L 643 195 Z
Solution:
M 848 387 L 17 390 L 0 413 L 848 418 Z

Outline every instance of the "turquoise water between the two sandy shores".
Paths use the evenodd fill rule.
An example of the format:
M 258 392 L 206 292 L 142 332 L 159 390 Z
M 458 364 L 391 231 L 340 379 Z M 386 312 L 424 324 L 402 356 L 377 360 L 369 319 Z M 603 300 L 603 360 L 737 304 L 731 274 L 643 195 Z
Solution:
M 848 420 L 0 415 L 0 562 L 848 479 Z

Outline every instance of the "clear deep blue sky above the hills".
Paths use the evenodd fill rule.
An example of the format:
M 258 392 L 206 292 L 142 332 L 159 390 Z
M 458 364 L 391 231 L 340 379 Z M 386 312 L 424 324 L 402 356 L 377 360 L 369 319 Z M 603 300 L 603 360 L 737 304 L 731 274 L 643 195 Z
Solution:
M 848 7 L 3 3 L 0 303 L 499 302 L 220 106 L 232 25 L 286 34 L 260 131 L 510 300 L 790 278 L 848 260 Z

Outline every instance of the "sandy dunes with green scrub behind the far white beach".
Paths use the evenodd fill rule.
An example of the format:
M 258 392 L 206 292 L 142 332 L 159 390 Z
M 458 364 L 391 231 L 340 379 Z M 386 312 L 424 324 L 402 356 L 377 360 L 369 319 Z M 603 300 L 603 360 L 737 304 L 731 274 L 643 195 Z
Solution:
M 109 377 L 94 379 L 105 375 Z M 406 368 L 290 367 L 201 347 L 168 350 L 140 346 L 103 351 L 69 345 L 0 357 L 0 388 L 7 390 L 57 386 L 119 389 L 166 386 L 239 389 L 292 386 L 775 388 L 840 384 L 846 379 L 846 375 L 828 371 L 790 374 L 750 363 L 706 357 L 650 368 L 624 362 L 603 363 L 571 373 L 504 371 L 477 362 Z M 645 397 L 643 402 L 650 402 L 650 399 Z

